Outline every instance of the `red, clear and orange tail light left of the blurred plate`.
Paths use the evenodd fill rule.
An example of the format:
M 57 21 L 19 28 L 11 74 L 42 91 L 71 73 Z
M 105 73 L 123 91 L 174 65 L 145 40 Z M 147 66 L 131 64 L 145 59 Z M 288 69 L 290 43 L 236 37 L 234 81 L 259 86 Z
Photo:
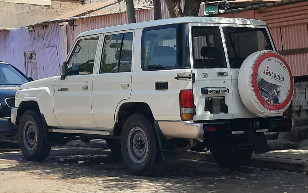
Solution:
M 180 114 L 183 121 L 193 120 L 193 90 L 180 91 Z

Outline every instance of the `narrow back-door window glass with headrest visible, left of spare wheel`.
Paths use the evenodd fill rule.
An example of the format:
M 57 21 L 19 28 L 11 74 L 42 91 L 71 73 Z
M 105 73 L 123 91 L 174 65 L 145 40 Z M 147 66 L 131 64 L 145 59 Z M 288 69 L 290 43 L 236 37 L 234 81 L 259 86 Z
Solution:
M 226 68 L 219 27 L 193 26 L 193 60 L 195 68 Z

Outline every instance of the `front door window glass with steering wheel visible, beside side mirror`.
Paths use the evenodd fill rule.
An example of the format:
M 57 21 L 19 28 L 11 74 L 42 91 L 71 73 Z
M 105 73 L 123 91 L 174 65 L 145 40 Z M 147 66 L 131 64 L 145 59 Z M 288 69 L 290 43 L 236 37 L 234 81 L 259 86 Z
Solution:
M 99 37 L 79 40 L 67 61 L 68 75 L 92 74 Z

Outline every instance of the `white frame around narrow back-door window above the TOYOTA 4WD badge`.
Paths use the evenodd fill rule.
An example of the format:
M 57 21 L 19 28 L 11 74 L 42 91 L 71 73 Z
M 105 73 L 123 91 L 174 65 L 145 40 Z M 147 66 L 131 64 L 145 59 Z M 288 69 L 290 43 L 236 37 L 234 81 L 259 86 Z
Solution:
M 223 67 L 210 67 L 210 68 L 196 68 L 195 67 L 195 60 L 194 60 L 194 57 L 195 57 L 195 50 L 194 50 L 194 45 L 193 45 L 193 27 L 216 27 L 218 28 L 219 30 L 219 36 L 220 36 L 220 46 L 222 46 L 222 50 L 221 50 L 221 53 L 223 54 L 222 55 L 222 59 L 223 59 L 223 62 L 225 63 L 225 66 Z M 191 42 L 191 46 L 190 46 L 190 58 L 191 58 L 191 61 L 193 62 L 193 68 L 194 69 L 226 69 L 226 68 L 229 68 L 229 61 L 227 60 L 227 50 L 226 50 L 226 46 L 225 46 L 225 39 L 224 39 L 224 36 L 223 36 L 223 31 L 222 31 L 222 27 L 220 24 L 216 24 L 216 23 L 211 23 L 211 24 L 196 24 L 196 23 L 193 23 L 191 25 L 189 25 L 189 38 L 190 38 L 190 42 Z

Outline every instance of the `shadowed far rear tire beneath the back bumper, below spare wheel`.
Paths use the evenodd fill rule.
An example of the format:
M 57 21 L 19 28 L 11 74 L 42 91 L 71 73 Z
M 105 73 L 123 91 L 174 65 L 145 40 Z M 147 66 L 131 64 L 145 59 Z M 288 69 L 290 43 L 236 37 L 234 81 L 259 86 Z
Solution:
M 223 167 L 239 167 L 249 163 L 253 150 L 251 147 L 243 149 L 222 150 L 221 148 L 211 149 L 214 159 Z

